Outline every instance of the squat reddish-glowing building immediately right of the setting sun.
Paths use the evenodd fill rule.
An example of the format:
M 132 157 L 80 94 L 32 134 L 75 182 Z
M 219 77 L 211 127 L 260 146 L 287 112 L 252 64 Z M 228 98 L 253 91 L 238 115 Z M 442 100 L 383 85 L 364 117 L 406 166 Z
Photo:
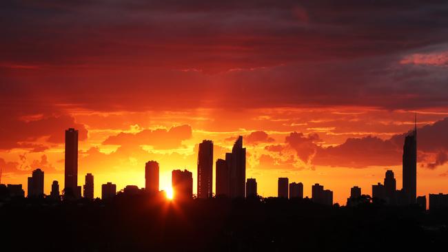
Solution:
M 193 196 L 193 174 L 187 170 L 172 171 L 171 185 L 173 198 L 176 200 L 187 200 Z

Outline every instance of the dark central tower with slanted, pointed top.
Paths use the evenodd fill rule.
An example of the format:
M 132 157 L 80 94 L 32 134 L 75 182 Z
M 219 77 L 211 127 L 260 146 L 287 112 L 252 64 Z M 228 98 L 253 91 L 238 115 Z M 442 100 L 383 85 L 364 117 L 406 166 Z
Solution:
M 243 136 L 238 136 L 232 147 L 232 153 L 225 154 L 225 162 L 230 172 L 230 198 L 244 198 L 246 148 L 243 148 Z

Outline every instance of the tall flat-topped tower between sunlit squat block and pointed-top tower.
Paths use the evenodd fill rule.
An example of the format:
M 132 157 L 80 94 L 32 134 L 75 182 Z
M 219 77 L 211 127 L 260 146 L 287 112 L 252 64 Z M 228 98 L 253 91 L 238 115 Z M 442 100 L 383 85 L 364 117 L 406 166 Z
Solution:
M 198 151 L 198 198 L 213 196 L 213 142 L 203 140 Z

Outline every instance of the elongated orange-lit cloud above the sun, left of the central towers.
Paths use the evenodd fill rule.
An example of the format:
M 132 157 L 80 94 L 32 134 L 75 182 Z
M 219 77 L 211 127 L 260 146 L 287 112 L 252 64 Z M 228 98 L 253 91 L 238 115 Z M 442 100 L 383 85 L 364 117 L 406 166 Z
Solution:
M 182 141 L 192 137 L 190 125 L 173 126 L 167 129 L 143 129 L 136 134 L 121 132 L 109 136 L 103 145 L 150 145 L 154 149 L 174 149 L 182 146 Z

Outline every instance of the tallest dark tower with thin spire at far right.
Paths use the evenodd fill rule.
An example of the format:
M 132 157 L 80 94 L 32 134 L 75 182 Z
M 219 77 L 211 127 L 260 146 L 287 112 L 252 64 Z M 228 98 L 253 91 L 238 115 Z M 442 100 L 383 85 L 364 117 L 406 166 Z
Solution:
M 405 137 L 403 145 L 403 193 L 407 204 L 414 204 L 417 196 L 417 122 L 414 132 Z

